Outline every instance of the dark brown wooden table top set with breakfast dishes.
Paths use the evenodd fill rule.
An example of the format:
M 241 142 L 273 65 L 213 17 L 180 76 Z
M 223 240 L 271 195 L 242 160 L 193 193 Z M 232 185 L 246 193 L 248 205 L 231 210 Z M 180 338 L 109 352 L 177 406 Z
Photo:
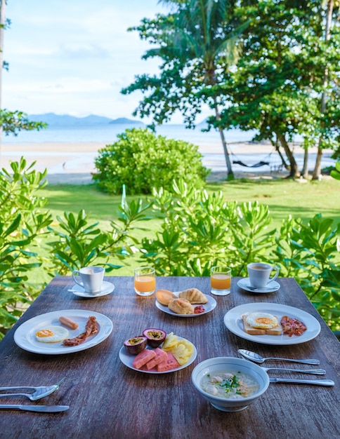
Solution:
M 231 294 L 216 297 L 216 309 L 196 318 L 169 316 L 155 306 L 155 295 L 138 297 L 132 277 L 107 277 L 115 291 L 96 299 L 78 297 L 67 289 L 70 277 L 56 277 L 0 343 L 0 386 L 49 385 L 66 376 L 60 389 L 31 403 L 25 398 L 1 403 L 61 404 L 70 410 L 40 414 L 2 410 L 1 438 L 339 438 L 339 342 L 296 281 L 278 279 L 281 288 L 270 294 L 244 292 L 233 279 Z M 157 278 L 157 288 L 172 291 L 192 287 L 209 294 L 209 278 Z M 225 313 L 240 304 L 275 302 L 303 309 L 318 319 L 321 332 L 313 340 L 293 346 L 258 344 L 233 335 L 224 325 Z M 18 347 L 13 335 L 26 320 L 49 311 L 82 309 L 105 314 L 112 334 L 102 343 L 77 353 L 41 355 Z M 125 339 L 147 327 L 164 328 L 189 339 L 197 347 L 192 365 L 169 374 L 144 374 L 119 360 Z M 270 384 L 268 391 L 246 410 L 225 413 L 209 405 L 191 382 L 200 361 L 215 356 L 237 356 L 237 349 L 263 356 L 318 358 L 334 387 Z M 267 361 L 266 366 L 293 363 Z M 296 365 L 296 364 L 294 364 Z M 309 367 L 296 365 L 296 367 Z M 313 366 L 310 366 L 313 367 Z M 315 366 L 314 366 L 315 367 Z M 269 372 L 272 377 L 292 377 Z M 296 378 L 322 378 L 294 374 Z

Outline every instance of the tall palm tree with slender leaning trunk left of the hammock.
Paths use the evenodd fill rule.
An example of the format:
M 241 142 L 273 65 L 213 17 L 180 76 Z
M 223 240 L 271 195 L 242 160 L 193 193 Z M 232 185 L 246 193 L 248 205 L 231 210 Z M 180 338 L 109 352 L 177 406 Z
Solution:
M 220 102 L 214 86 L 228 67 L 240 58 L 241 48 L 237 44 L 240 34 L 249 25 L 235 26 L 233 7 L 228 0 L 162 0 L 176 10 L 172 32 L 168 33 L 166 44 L 173 50 L 183 65 L 188 62 L 202 71 L 202 83 L 212 100 L 216 121 L 221 119 Z M 167 25 L 169 26 L 169 25 Z M 228 177 L 233 169 L 225 141 L 223 128 L 218 127 L 223 145 Z

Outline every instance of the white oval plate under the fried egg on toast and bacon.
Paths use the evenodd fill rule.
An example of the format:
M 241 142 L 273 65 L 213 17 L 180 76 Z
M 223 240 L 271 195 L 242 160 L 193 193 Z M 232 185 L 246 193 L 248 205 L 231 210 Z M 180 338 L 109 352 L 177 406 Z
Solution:
M 270 313 L 277 316 L 277 319 L 281 320 L 282 316 L 289 316 L 297 318 L 302 321 L 306 326 L 307 330 L 303 332 L 302 335 L 251 335 L 247 334 L 243 330 L 242 316 L 253 313 L 255 311 L 261 311 L 263 313 Z M 309 342 L 309 340 L 314 339 L 320 332 L 320 323 L 316 318 L 310 316 L 306 311 L 302 309 L 294 308 L 293 306 L 273 304 L 273 303 L 256 303 L 256 304 L 244 304 L 240 306 L 235 306 L 235 308 L 230 309 L 228 313 L 225 314 L 223 318 L 224 324 L 228 327 L 230 332 L 242 337 L 242 339 L 250 340 L 251 342 L 262 343 L 262 344 L 300 344 L 304 342 Z

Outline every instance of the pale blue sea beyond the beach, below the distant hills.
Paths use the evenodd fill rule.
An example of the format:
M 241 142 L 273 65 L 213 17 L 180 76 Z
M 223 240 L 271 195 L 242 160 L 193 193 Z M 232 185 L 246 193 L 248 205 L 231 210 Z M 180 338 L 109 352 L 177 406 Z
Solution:
M 97 126 L 51 126 L 44 130 L 34 131 L 20 131 L 17 136 L 12 134 L 3 135 L 3 144 L 34 144 L 34 143 L 81 143 L 81 142 L 101 142 L 105 144 L 112 144 L 117 140 L 117 135 L 124 133 L 126 129 L 140 128 L 138 126 L 131 126 L 126 124 L 107 124 Z M 143 128 L 143 127 L 141 127 Z M 156 135 L 162 135 L 167 138 L 176 140 L 184 140 L 197 145 L 199 151 L 202 154 L 202 163 L 212 171 L 226 171 L 225 158 L 223 154 L 223 147 L 221 144 L 221 137 L 216 130 L 209 132 L 202 131 L 202 128 L 196 127 L 195 129 L 185 128 L 183 125 L 166 124 L 156 128 Z M 251 172 L 261 173 L 263 171 L 277 170 L 281 162 L 280 156 L 275 151 L 275 148 L 268 142 L 268 148 L 266 154 L 256 152 L 256 142 L 250 143 L 256 135 L 256 131 L 240 131 L 240 130 L 226 130 L 225 140 L 228 144 L 228 151 L 230 153 L 230 161 L 242 161 L 244 165 L 233 163 L 233 170 L 235 172 Z M 244 153 L 244 143 L 248 143 L 251 149 L 254 149 L 254 154 L 249 154 L 249 148 Z M 299 138 L 294 139 L 294 147 L 299 147 Z M 257 148 L 259 150 L 259 147 Z M 58 151 L 56 151 L 58 154 Z M 8 153 L 7 153 L 8 154 Z M 21 155 L 29 156 L 29 152 L 15 153 L 18 158 Z M 35 153 L 36 154 L 36 153 Z M 41 156 L 48 155 L 48 151 L 41 152 Z M 53 153 L 54 154 L 54 153 Z M 6 159 L 6 152 L 1 153 Z M 84 166 L 93 163 L 96 153 L 86 153 L 84 151 L 79 153 L 79 159 L 77 164 L 74 161 L 74 166 Z M 294 153 L 296 162 L 299 168 L 303 166 L 303 154 Z M 334 166 L 335 161 L 331 158 L 332 153 L 325 151 L 322 156 L 322 168 L 328 166 Z M 29 157 L 27 157 L 29 158 Z M 308 156 L 308 169 L 313 170 L 315 165 L 316 154 L 309 154 Z M 259 168 L 252 168 L 260 161 L 268 163 L 268 165 L 261 166 Z M 86 162 L 86 163 L 84 163 Z M 72 163 L 70 163 L 72 166 Z M 60 165 L 54 168 L 48 169 L 48 173 L 60 173 Z

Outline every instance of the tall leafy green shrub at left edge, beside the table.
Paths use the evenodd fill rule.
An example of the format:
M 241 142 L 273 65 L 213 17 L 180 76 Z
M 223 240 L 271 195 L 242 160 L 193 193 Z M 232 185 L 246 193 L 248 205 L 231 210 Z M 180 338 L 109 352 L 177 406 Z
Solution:
M 37 194 L 46 172 L 32 170 L 34 163 L 27 166 L 21 158 L 11 163 L 11 173 L 0 172 L 0 339 L 44 288 L 27 276 L 41 265 L 40 240 L 52 222 L 48 211 L 41 211 L 47 200 Z

